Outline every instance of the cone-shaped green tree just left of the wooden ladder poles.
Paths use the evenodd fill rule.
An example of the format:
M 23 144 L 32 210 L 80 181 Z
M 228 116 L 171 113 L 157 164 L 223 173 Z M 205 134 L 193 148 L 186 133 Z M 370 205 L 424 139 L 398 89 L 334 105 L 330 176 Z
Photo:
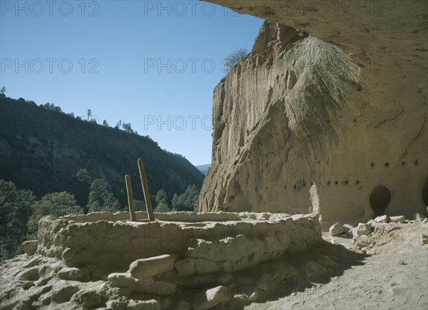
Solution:
M 91 192 L 89 192 L 88 205 L 86 206 L 88 213 L 91 212 L 118 212 L 121 211 L 121 204 L 113 196 L 113 193 L 108 190 L 106 180 L 93 180 L 91 184 Z

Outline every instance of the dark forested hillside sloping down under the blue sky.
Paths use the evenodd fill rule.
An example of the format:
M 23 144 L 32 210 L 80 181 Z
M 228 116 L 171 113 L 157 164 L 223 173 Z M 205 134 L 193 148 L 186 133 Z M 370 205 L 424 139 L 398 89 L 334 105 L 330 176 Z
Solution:
M 70 192 L 79 205 L 88 205 L 90 183 L 76 175 L 86 169 L 91 180 L 105 179 L 121 205 L 128 205 L 124 175 L 139 184 L 138 157 L 143 157 L 149 190 L 182 194 L 192 184 L 201 187 L 203 174 L 180 155 L 165 152 L 147 136 L 126 133 L 73 118 L 56 107 L 40 107 L 26 100 L 0 98 L 0 178 L 34 191 Z M 86 116 L 84 117 L 86 118 Z M 122 128 L 122 122 L 120 122 Z M 132 128 L 131 128 L 132 129 Z M 143 192 L 134 191 L 136 200 Z

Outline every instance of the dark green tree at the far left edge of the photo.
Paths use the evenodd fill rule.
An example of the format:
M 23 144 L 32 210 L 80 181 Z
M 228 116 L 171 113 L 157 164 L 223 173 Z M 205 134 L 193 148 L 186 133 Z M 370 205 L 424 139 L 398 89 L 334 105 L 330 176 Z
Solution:
M 14 183 L 0 179 L 0 260 L 19 254 L 35 200 L 29 190 L 17 190 Z

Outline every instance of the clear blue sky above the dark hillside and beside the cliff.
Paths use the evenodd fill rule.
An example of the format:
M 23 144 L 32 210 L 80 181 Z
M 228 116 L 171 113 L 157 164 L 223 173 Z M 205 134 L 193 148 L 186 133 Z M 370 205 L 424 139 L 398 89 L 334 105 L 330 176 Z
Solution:
M 12 98 L 90 108 L 194 165 L 210 162 L 213 88 L 262 19 L 200 1 L 0 1 L 0 86 Z

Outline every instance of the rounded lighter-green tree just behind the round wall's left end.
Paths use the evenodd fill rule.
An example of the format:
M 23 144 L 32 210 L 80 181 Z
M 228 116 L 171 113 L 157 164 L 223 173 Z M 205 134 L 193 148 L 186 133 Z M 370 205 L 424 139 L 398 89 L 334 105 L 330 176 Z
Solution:
M 77 205 L 74 195 L 68 192 L 52 192 L 44 195 L 41 200 L 34 202 L 31 206 L 33 215 L 27 223 L 28 239 L 37 239 L 39 219 L 46 215 L 61 217 L 63 215 L 77 215 L 83 213 L 83 208 Z

